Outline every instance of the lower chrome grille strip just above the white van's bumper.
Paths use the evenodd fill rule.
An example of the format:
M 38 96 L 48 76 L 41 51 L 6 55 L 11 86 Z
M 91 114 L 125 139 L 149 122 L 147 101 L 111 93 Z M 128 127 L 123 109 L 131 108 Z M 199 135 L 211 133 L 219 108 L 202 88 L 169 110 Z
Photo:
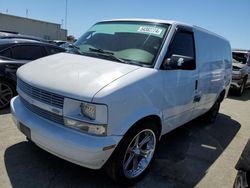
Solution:
M 55 123 L 59 123 L 59 124 L 64 124 L 64 120 L 63 120 L 63 116 L 59 116 L 57 114 L 54 114 L 52 112 L 49 112 L 47 110 L 43 110 L 35 105 L 30 104 L 29 102 L 27 102 L 25 99 L 23 99 L 20 96 L 20 99 L 22 101 L 22 103 L 24 104 L 24 106 L 29 109 L 31 112 L 45 118 L 48 119 L 50 121 L 53 121 Z

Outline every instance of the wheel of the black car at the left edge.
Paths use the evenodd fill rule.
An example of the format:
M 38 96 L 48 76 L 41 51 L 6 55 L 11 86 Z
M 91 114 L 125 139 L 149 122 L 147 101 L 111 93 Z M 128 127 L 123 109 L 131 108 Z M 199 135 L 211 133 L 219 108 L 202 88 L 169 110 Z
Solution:
M 0 110 L 9 106 L 10 100 L 15 96 L 15 87 L 7 81 L 0 81 Z

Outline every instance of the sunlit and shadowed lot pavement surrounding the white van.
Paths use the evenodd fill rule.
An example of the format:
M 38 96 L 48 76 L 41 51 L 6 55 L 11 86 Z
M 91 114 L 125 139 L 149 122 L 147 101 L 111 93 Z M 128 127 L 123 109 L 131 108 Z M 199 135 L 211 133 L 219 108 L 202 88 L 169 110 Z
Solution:
M 229 95 L 214 124 L 194 120 L 162 137 L 145 178 L 133 187 L 232 187 L 234 166 L 250 137 L 250 89 Z M 117 187 L 102 170 L 90 170 L 43 151 L 0 111 L 0 188 Z

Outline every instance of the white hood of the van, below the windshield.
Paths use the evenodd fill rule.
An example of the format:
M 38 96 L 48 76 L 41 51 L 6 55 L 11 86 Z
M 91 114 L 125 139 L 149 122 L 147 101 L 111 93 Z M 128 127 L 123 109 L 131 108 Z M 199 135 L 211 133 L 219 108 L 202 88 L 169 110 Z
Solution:
M 32 86 L 91 101 L 102 88 L 139 68 L 99 58 L 59 53 L 20 67 L 17 75 Z

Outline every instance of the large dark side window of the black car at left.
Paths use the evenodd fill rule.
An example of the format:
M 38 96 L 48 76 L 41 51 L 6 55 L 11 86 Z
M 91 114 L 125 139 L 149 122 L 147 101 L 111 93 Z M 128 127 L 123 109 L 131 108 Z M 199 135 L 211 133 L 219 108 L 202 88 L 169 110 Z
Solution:
M 36 45 L 20 45 L 12 47 L 14 59 L 35 60 L 44 56 L 42 48 Z

